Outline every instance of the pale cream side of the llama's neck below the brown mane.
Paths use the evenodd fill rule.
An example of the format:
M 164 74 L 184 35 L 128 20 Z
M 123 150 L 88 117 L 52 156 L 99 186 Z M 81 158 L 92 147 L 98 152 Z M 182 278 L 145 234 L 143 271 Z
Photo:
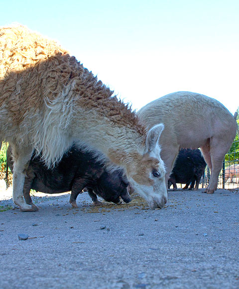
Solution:
M 91 151 L 99 151 L 99 155 L 103 154 L 102 158 L 106 156 L 121 167 L 135 155 L 143 154 L 145 137 L 129 125 L 116 124 L 92 111 L 80 115 L 81 121 L 75 121 L 73 129 L 73 139 L 78 144 Z

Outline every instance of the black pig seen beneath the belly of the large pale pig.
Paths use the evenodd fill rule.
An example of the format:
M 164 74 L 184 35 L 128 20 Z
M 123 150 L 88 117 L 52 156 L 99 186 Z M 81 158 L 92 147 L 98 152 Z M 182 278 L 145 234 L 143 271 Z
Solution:
M 173 190 L 176 190 L 176 183 L 186 183 L 185 190 L 191 183 L 189 189 L 193 189 L 196 181 L 194 190 L 198 190 L 205 167 L 206 162 L 199 149 L 181 148 L 168 179 L 168 188 L 173 184 Z

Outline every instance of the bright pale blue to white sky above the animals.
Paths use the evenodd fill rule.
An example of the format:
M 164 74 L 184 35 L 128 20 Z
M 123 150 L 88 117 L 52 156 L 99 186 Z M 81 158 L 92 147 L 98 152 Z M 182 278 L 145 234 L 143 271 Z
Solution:
M 68 49 L 133 109 L 186 90 L 239 107 L 239 0 L 1 0 L 0 26 Z

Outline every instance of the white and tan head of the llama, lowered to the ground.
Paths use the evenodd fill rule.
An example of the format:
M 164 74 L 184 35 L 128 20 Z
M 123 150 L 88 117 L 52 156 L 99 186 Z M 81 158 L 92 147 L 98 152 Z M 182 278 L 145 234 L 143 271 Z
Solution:
M 165 183 L 165 168 L 160 158 L 159 137 L 163 131 L 163 124 L 151 128 L 146 136 L 146 142 L 142 151 L 134 150 L 130 157 L 119 155 L 115 151 L 116 158 L 126 158 L 124 165 L 125 174 L 129 181 L 131 192 L 138 193 L 151 209 L 162 208 L 167 202 L 167 188 Z

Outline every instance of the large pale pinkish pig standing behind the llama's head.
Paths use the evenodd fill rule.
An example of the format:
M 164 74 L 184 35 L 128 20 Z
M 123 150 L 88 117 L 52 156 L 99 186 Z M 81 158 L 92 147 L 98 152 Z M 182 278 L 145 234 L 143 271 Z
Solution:
M 159 144 L 160 156 L 166 168 L 166 182 L 179 149 L 200 147 L 211 170 L 210 182 L 205 192 L 214 193 L 223 159 L 238 130 L 237 113 L 233 117 L 216 99 L 194 92 L 179 91 L 148 103 L 137 115 L 148 130 L 156 124 L 164 124 Z

